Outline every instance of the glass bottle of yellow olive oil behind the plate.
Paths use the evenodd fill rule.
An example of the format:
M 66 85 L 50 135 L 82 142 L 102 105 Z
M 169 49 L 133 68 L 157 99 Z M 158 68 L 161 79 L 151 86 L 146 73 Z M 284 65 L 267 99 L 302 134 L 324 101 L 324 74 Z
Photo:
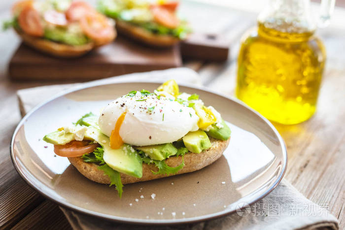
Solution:
M 323 0 L 322 25 L 334 0 Z M 314 35 L 309 0 L 271 0 L 242 37 L 236 95 L 269 120 L 297 124 L 316 109 L 326 53 Z

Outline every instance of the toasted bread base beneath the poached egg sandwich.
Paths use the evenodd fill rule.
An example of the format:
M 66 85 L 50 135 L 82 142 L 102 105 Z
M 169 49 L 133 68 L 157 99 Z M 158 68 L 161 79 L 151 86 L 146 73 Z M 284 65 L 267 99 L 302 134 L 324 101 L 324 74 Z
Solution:
M 226 147 L 228 147 L 230 138 L 228 140 L 217 140 L 214 138 L 210 138 L 210 141 L 212 145 L 206 151 L 203 151 L 199 154 L 191 152 L 185 154 L 185 165 L 175 175 L 199 170 L 218 160 L 222 156 Z M 98 169 L 97 164 L 86 163 L 81 159 L 81 157 L 69 157 L 68 159 L 69 162 L 88 179 L 101 184 L 110 184 L 108 176 L 104 175 L 104 171 Z M 165 162 L 171 167 L 176 167 L 182 163 L 182 157 L 171 157 L 165 160 Z M 158 168 L 154 164 L 142 164 L 141 178 L 120 173 L 122 184 L 132 184 L 140 181 L 148 181 L 167 177 L 167 175 L 163 174 L 153 174 L 151 170 L 158 171 Z

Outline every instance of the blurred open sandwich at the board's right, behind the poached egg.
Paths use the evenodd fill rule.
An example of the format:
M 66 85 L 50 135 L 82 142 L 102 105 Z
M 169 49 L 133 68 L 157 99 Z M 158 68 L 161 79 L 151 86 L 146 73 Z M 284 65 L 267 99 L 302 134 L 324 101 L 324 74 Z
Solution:
M 176 16 L 175 0 L 99 0 L 98 8 L 116 20 L 116 29 L 154 47 L 169 47 L 190 33 Z

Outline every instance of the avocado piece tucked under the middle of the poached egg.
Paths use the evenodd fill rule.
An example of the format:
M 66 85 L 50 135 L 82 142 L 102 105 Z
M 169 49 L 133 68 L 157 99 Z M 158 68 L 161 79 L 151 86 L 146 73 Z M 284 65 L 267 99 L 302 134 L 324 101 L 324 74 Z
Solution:
M 152 160 L 163 161 L 170 156 L 177 153 L 177 149 L 172 143 L 159 144 L 159 145 L 148 145 L 136 147 L 136 149 L 143 151 Z

